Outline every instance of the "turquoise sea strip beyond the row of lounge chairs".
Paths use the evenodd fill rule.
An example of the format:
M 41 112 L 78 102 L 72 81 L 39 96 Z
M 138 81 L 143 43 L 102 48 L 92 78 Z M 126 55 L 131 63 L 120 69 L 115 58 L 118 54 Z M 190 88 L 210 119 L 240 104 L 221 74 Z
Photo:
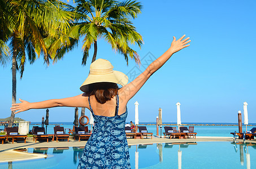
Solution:
M 60 125 L 64 128 L 73 128 L 72 122 L 51 122 L 50 125 L 47 126 L 47 134 L 54 134 L 54 126 Z M 142 123 L 141 126 L 144 126 L 145 124 L 154 124 L 154 123 Z M 186 123 L 189 124 L 189 123 Z M 190 125 L 191 124 L 191 125 Z M 232 135 L 230 132 L 238 131 L 238 126 L 225 126 L 225 125 L 235 125 L 237 123 L 214 123 L 222 126 L 209 126 L 213 123 L 190 123 L 189 126 L 194 126 L 193 124 L 200 124 L 202 126 L 194 126 L 194 132 L 197 132 L 197 136 L 220 136 L 220 137 L 231 137 Z M 139 126 L 140 126 L 139 125 Z M 251 123 L 253 126 L 248 126 L 248 131 L 255 127 L 255 123 Z M 33 126 L 40 126 L 41 122 L 32 122 L 29 125 L 29 130 L 32 130 Z M 153 135 L 157 135 L 157 126 L 156 125 L 145 125 L 147 127 L 147 131 L 153 132 Z M 175 125 L 168 125 L 171 127 L 177 127 Z M 164 125 L 162 126 L 162 133 L 164 132 Z M 188 126 L 187 126 L 188 127 Z M 0 129 L 3 129 L 4 126 L 0 126 Z M 90 130 L 91 126 L 88 125 L 88 128 Z M 245 131 L 245 126 L 242 126 L 242 130 Z M 66 130 L 66 133 L 68 132 L 68 129 Z M 159 135 L 160 135 L 160 127 L 159 127 Z M 163 135 L 163 134 L 162 134 Z

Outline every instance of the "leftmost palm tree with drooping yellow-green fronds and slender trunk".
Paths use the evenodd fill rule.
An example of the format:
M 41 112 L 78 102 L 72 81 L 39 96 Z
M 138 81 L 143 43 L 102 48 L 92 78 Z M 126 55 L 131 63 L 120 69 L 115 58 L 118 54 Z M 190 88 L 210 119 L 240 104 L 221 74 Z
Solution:
M 3 1 L 3 0 L 2 0 Z M 26 60 L 32 64 L 36 55 L 44 55 L 44 60 L 49 65 L 53 55 L 47 52 L 46 37 L 57 37 L 70 29 L 73 12 L 68 11 L 66 3 L 60 1 L 5 1 L 5 8 L 11 16 L 8 29 L 10 35 L 10 51 L 12 56 L 12 104 L 16 103 L 16 70 L 23 76 Z M 27 53 L 27 55 L 26 55 Z M 28 57 L 27 57 L 28 56 Z M 12 126 L 14 111 L 8 124 Z

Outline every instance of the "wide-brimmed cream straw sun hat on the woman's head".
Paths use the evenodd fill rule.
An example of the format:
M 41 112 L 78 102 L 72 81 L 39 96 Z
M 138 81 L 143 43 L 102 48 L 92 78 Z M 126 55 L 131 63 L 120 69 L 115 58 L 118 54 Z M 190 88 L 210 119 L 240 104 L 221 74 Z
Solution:
M 110 61 L 105 59 L 97 59 L 90 64 L 90 72 L 80 90 L 83 92 L 89 91 L 89 84 L 99 82 L 118 83 L 124 86 L 128 83 L 128 77 L 122 72 L 113 70 Z

